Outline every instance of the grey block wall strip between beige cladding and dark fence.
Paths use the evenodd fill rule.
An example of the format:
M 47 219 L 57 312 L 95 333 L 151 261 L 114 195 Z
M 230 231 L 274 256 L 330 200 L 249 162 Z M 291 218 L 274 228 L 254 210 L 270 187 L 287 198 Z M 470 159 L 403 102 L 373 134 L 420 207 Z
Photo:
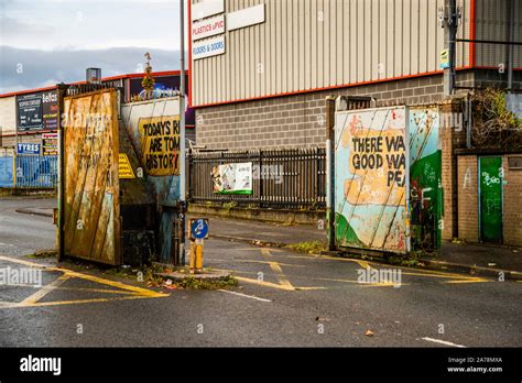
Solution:
M 371 96 L 377 106 L 443 99 L 443 76 L 292 95 L 196 110 L 196 142 L 208 149 L 314 147 L 325 144 L 327 96 Z

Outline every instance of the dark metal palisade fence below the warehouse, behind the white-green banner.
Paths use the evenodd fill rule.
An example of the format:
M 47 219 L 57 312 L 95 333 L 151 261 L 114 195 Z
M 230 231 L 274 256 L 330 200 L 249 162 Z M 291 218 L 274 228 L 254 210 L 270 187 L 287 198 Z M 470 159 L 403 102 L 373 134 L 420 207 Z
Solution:
M 213 174 L 218 165 L 250 163 L 251 194 L 218 194 Z M 188 199 L 279 209 L 324 209 L 326 150 L 289 149 L 246 152 L 189 153 Z

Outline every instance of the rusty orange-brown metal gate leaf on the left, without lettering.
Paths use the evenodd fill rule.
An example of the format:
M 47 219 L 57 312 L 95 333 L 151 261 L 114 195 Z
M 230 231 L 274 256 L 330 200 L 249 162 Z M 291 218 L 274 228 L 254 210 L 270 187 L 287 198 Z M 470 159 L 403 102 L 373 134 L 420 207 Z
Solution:
M 120 188 L 117 90 L 63 101 L 64 254 L 117 265 Z M 116 149 L 116 150 L 115 150 Z

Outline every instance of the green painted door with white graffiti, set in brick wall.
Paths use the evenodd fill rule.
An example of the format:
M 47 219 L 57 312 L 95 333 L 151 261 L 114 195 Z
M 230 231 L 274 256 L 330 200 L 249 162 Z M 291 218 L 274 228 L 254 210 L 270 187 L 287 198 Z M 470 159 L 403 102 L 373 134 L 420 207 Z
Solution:
M 502 241 L 502 158 L 479 158 L 480 240 Z

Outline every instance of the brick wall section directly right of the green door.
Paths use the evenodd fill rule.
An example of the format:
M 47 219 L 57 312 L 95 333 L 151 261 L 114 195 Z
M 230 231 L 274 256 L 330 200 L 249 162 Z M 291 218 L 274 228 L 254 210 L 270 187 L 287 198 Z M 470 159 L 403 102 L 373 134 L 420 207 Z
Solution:
M 502 158 L 507 182 L 503 187 L 503 240 L 504 244 L 522 247 L 522 169 L 510 169 L 509 156 Z

